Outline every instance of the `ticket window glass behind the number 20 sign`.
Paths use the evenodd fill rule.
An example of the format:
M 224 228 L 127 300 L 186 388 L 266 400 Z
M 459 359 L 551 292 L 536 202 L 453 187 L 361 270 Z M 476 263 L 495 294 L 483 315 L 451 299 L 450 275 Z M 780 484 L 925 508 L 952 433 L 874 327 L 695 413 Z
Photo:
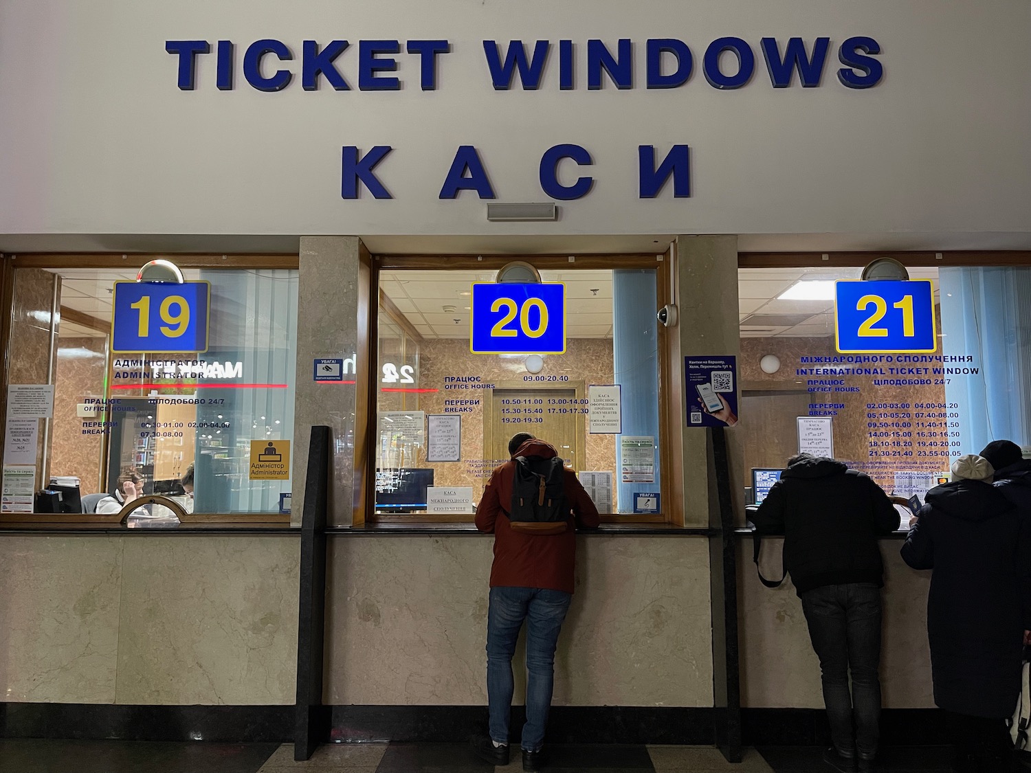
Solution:
M 471 519 L 519 432 L 554 445 L 609 519 L 665 519 L 634 496 L 662 486 L 657 271 L 540 275 L 565 288 L 562 354 L 471 351 L 471 285 L 495 270 L 380 272 L 376 519 Z

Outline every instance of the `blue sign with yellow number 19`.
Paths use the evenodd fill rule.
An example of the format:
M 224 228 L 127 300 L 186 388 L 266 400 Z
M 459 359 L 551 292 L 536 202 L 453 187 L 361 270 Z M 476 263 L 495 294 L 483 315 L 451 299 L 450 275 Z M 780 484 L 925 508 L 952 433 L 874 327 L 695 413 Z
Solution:
M 113 295 L 111 351 L 207 351 L 208 282 L 117 281 Z

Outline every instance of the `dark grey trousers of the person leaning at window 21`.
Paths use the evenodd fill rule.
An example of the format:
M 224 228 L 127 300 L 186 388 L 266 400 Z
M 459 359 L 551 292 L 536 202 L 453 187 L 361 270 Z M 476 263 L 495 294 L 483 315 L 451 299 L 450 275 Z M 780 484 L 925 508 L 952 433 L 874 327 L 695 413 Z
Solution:
M 816 587 L 801 597 L 809 639 L 820 658 L 834 747 L 846 757 L 858 751 L 872 758 L 880 739 L 880 589 L 853 582 Z

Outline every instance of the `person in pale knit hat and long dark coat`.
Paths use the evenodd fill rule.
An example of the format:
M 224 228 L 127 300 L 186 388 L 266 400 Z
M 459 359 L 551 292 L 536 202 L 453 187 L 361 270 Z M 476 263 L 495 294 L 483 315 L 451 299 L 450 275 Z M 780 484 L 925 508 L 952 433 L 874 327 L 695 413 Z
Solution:
M 960 457 L 953 481 L 927 493 L 902 546 L 913 569 L 933 569 L 927 599 L 934 702 L 946 712 L 955 770 L 1006 771 L 1005 719 L 1021 692 L 1031 629 L 1031 520 L 991 485 L 992 466 Z

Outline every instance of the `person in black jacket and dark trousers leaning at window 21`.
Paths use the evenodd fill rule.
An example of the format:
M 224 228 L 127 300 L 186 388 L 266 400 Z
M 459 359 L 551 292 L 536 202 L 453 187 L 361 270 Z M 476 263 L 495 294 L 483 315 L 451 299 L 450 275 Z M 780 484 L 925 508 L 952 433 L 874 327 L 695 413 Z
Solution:
M 877 537 L 898 529 L 899 520 L 869 477 L 808 453 L 788 460 L 754 515 L 761 534 L 785 535 L 785 569 L 820 658 L 834 742 L 824 759 L 841 771 L 873 770 L 877 754 L 884 585 Z

